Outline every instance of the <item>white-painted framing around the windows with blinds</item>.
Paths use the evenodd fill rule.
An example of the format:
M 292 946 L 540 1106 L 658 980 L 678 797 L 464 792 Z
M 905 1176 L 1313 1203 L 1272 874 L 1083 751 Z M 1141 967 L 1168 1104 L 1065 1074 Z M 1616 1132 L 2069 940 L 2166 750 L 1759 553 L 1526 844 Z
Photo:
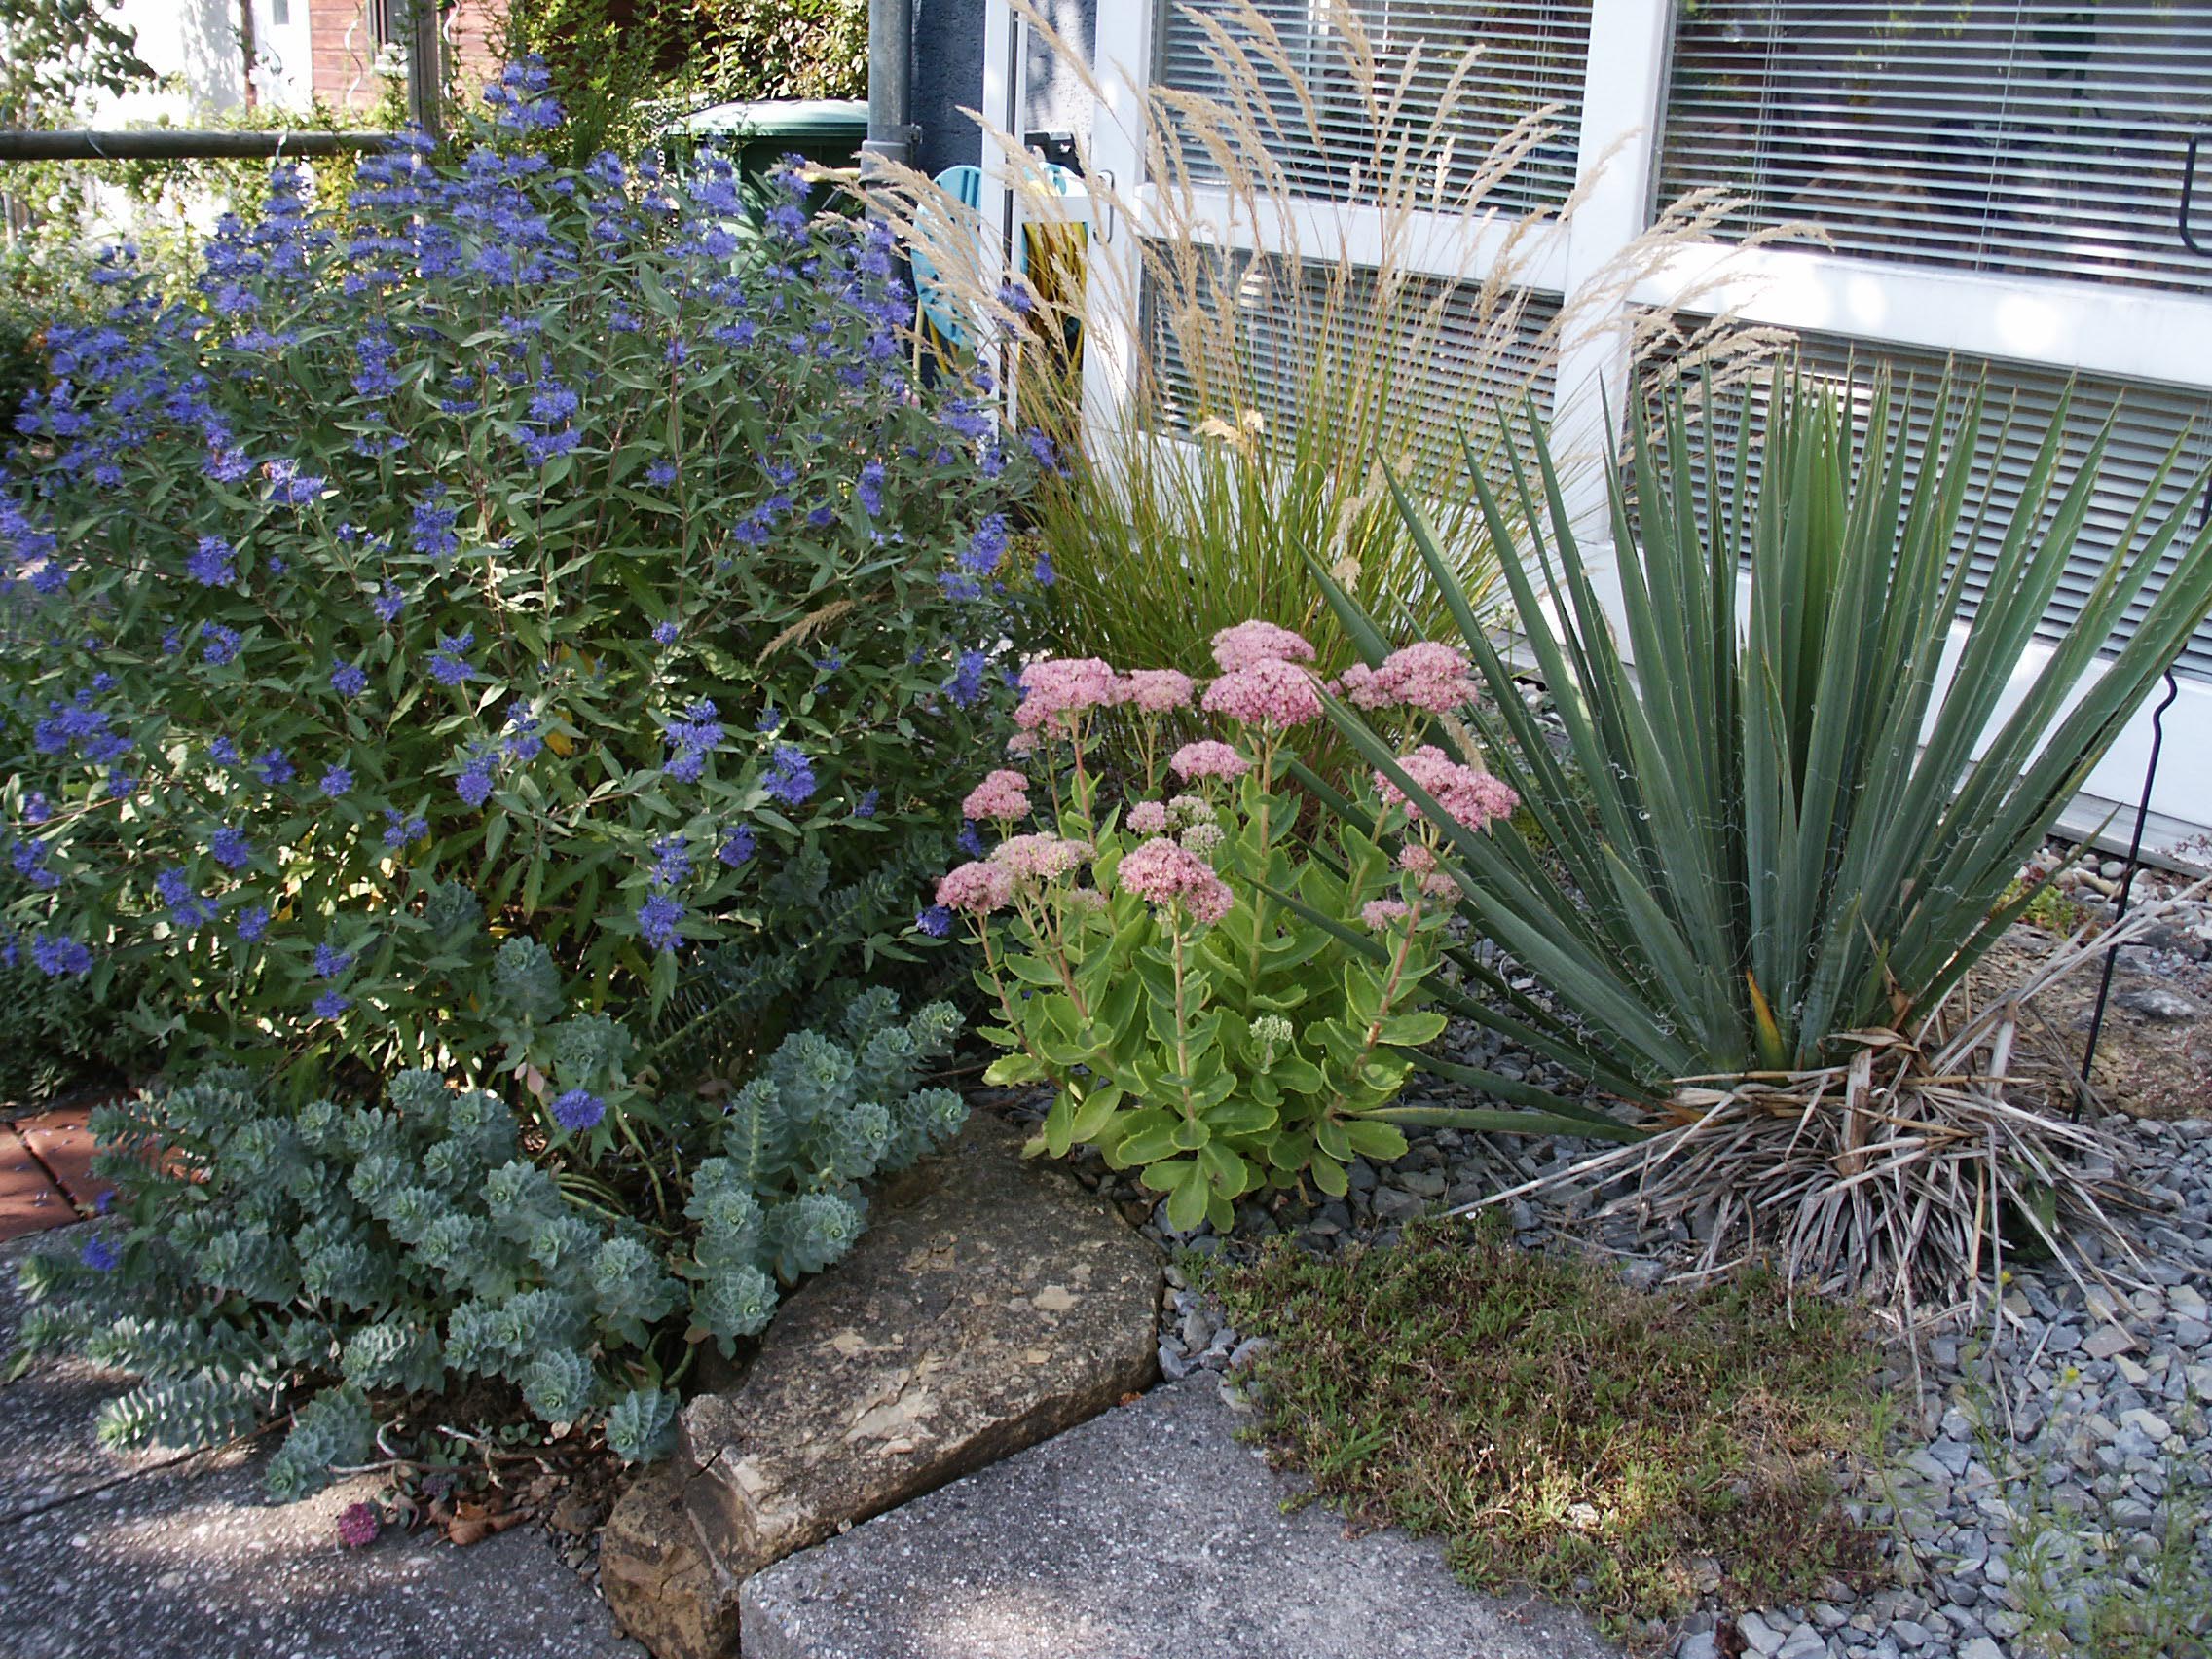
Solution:
M 1674 7 L 1677 0 L 1593 0 L 1577 201 L 1533 254 L 1526 246 L 1517 252 L 1533 288 L 1575 292 L 1648 228 Z M 991 0 L 989 13 L 995 27 L 987 40 L 1000 51 L 993 55 L 987 44 L 987 75 L 993 64 L 1004 62 L 1004 31 L 1011 29 L 1004 0 Z M 1155 15 L 1157 0 L 1104 0 L 1097 9 L 1095 62 L 1104 97 L 1093 115 L 1088 159 L 1130 204 L 1137 223 L 1099 226 L 1091 243 L 1093 292 L 1137 292 L 1137 237 L 1155 206 L 1152 186 L 1141 184 L 1141 106 Z M 2212 29 L 2212 20 L 2205 27 Z M 1267 217 L 1259 223 L 1241 221 L 1225 192 L 1201 192 L 1201 217 L 1208 208 L 1225 246 L 1292 246 L 1283 223 L 1270 223 Z M 1294 246 L 1340 246 L 1356 259 L 1363 243 L 1378 243 L 1378 212 L 1356 204 L 1301 204 L 1292 230 Z M 1425 241 L 1413 241 L 1409 263 L 1416 268 L 1480 279 L 1495 263 L 1502 232 L 1469 232 L 1464 223 L 1444 217 Z M 1420 248 L 1427 248 L 1427 257 Z M 1991 276 L 1816 248 L 1739 250 L 1710 243 L 1677 252 L 1639 281 L 1621 305 L 1677 307 L 1692 294 L 1699 310 L 1719 305 L 1745 323 L 1836 334 L 1874 347 L 1960 352 L 2121 380 L 2212 387 L 2212 299 L 2172 290 Z M 1113 434 L 1126 429 L 1139 341 L 1135 316 L 1124 312 L 1121 305 L 1095 303 L 1084 341 L 1084 420 L 1095 440 L 1113 440 Z M 1577 330 L 1577 343 L 1557 369 L 1553 427 L 1562 449 L 1579 453 L 1601 447 L 1604 409 L 1626 407 L 1626 330 Z M 1604 489 L 1595 469 L 1571 478 L 1568 507 L 1599 577 L 1617 557 Z M 2022 664 L 2000 721 L 2026 690 L 2039 661 L 2037 650 Z M 2150 712 L 2159 701 L 2161 692 L 2152 692 L 2090 772 L 2081 799 L 2064 818 L 2068 832 L 2095 832 L 2115 814 L 2110 836 L 2124 841 L 2132 830 L 2150 759 Z M 2212 830 L 2212 684 L 2183 677 L 2163 726 L 2168 748 L 2146 847 L 2170 852 Z

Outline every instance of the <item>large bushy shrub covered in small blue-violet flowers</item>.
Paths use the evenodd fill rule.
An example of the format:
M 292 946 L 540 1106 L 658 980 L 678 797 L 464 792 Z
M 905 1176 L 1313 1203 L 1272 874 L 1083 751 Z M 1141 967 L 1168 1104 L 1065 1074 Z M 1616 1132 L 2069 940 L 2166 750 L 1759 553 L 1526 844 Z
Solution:
M 613 1137 L 927 945 L 1037 462 L 909 378 L 887 230 L 739 215 L 502 135 L 279 168 L 195 303 L 104 268 L 0 495 L 9 960 L 144 964 L 294 1099 L 429 1066 Z

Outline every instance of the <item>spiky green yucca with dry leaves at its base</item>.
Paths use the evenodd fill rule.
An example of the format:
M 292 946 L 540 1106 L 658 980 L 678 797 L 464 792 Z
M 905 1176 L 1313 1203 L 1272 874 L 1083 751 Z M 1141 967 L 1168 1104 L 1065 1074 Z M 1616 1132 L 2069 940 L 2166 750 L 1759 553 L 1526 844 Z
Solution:
M 1730 1179 L 1776 1177 L 1794 1263 L 1814 1276 L 1891 1272 L 1907 1294 L 1929 1279 L 1958 1292 L 2002 1217 L 2033 1210 L 2031 1225 L 2051 1232 L 2053 1186 L 2059 1210 L 2068 1194 L 2093 1206 L 2055 1157 L 2022 1150 L 2004 1055 L 1984 1053 L 1986 1088 L 1940 1097 L 1913 1079 L 1958 1084 L 1927 1075 L 1922 1055 L 1944 1046 L 1947 1002 L 2028 902 L 2008 885 L 2212 606 L 2212 529 L 2188 529 L 2205 476 L 2183 511 L 2157 511 L 2168 456 L 2077 622 L 2037 661 L 2108 434 L 2068 478 L 2062 405 L 2006 509 L 1975 491 L 1991 414 L 1971 387 L 1916 398 L 1876 378 L 1851 416 L 1829 389 L 1776 372 L 1763 394 L 1677 385 L 1652 405 L 1610 467 L 1635 672 L 1542 429 L 1526 453 L 1506 440 L 1506 491 L 1469 473 L 1493 535 L 1522 542 L 1502 575 L 1564 757 L 1458 597 L 1427 513 L 1398 491 L 1489 681 L 1469 739 L 1520 792 L 1531 830 L 1453 841 L 1462 914 L 1548 1000 L 1515 995 L 1469 958 L 1495 1004 L 1467 1011 L 1683 1133 L 1772 1124 L 1770 1164 L 1730 1161 Z M 1995 551 L 1966 560 L 1962 546 Z M 2150 593 L 2154 571 L 2168 575 Z M 1380 659 L 1376 617 L 1325 571 L 1316 580 Z M 2128 615 L 2139 622 L 2115 646 Z M 1383 739 L 1349 708 L 1332 712 L 1416 794 Z M 1986 1117 L 1969 1121 L 1953 1095 Z M 1966 1141 L 1989 1148 L 1973 1183 L 1936 1157 Z M 1663 1166 L 1683 1208 L 1725 1214 L 1730 1194 L 1701 1181 L 1710 1168 L 1677 1150 L 1648 1152 L 1646 1168 Z M 1898 1203 L 1882 1206 L 1885 1192 Z M 1922 1250 L 1927 1214 L 1900 1221 L 1924 1199 L 1971 1210 L 1953 1248 Z M 1924 1274 L 1927 1256 L 1940 1265 Z

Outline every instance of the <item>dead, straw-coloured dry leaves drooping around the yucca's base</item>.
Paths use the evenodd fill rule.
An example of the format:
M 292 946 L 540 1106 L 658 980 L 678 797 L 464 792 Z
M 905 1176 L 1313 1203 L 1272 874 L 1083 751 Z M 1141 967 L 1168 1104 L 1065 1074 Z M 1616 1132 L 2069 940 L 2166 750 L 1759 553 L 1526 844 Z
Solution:
M 1982 1310 L 2008 1248 L 2048 1252 L 2084 1283 L 2084 1239 L 2137 1259 L 2117 1221 L 2132 1199 L 2112 1137 L 2073 1115 L 2090 1104 L 2073 1055 L 2024 1009 L 2177 902 L 2095 942 L 2075 933 L 1984 1002 L 1955 991 L 1911 1033 L 1843 1033 L 1849 1057 L 1834 1066 L 1686 1077 L 1672 1126 L 1467 1208 L 1628 1177 L 1590 1221 L 1681 1221 L 1705 1243 L 1679 1279 L 1767 1261 L 1796 1290 L 1869 1298 L 1907 1329 Z

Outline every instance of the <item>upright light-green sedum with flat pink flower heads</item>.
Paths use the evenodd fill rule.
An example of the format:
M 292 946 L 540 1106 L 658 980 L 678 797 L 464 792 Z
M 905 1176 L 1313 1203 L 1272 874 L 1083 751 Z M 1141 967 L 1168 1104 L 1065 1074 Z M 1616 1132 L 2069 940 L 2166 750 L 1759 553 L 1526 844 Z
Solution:
M 1037 1150 L 1088 1144 L 1141 1168 L 1179 1230 L 1228 1225 L 1239 1197 L 1303 1179 L 1343 1194 L 1354 1157 L 1405 1152 L 1402 1121 L 1517 1121 L 1394 1106 L 1413 1051 L 1444 1029 L 1427 1006 L 1458 891 L 1444 825 L 1482 836 L 1513 796 L 1416 745 L 1405 765 L 1429 803 L 1378 776 L 1363 823 L 1305 845 L 1290 741 L 1323 712 L 1312 655 L 1267 622 L 1225 628 L 1203 697 L 1172 668 L 1029 664 L 1018 748 L 1051 807 L 1033 812 L 1042 785 L 1024 772 L 991 772 L 964 812 L 1002 841 L 938 887 L 947 925 L 964 916 L 982 951 L 975 978 L 998 1011 L 982 1035 L 1006 1051 L 989 1079 L 1055 1088 Z M 1356 690 L 1416 730 L 1473 697 L 1464 657 L 1444 646 L 1356 670 Z M 1113 710 L 1137 728 L 1128 745 L 1146 770 L 1099 816 L 1093 748 Z M 1203 714 L 1234 741 L 1164 754 L 1164 726 Z M 1026 830 L 1033 816 L 1051 827 Z

